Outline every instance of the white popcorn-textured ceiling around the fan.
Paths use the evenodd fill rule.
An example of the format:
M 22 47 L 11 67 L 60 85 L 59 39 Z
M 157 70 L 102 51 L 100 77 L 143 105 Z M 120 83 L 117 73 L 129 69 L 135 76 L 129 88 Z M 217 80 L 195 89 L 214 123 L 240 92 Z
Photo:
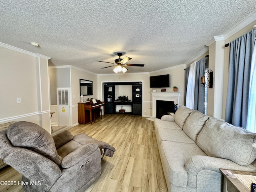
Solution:
M 5 0 L 0 42 L 96 74 L 114 73 L 95 60 L 122 51 L 145 64 L 127 72 L 152 72 L 186 63 L 255 10 L 255 0 Z

